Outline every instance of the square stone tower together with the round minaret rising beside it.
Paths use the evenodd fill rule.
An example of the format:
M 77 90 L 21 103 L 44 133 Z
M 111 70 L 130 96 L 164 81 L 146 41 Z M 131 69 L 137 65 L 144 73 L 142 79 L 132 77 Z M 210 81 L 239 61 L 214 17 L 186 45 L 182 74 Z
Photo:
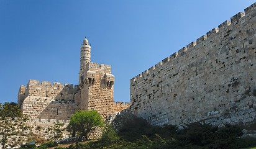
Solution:
M 79 85 L 81 89 L 80 109 L 97 110 L 103 117 L 113 111 L 114 75 L 111 66 L 91 62 L 91 46 L 88 40 L 81 45 Z

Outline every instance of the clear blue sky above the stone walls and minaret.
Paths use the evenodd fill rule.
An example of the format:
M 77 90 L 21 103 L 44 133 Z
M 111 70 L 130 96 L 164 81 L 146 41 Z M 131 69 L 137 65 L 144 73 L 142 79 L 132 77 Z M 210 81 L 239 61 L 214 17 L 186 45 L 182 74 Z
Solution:
M 0 102 L 29 79 L 78 84 L 80 43 L 112 66 L 114 100 L 129 80 L 255 2 L 252 0 L 0 0 Z

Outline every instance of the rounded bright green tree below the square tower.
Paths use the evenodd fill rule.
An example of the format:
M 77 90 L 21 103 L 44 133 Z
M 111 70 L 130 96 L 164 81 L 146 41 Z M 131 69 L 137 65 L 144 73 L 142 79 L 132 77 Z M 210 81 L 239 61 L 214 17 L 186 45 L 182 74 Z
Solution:
M 70 118 L 69 130 L 78 132 L 80 139 L 85 137 L 88 140 L 88 133 L 103 125 L 102 117 L 97 111 L 76 111 Z

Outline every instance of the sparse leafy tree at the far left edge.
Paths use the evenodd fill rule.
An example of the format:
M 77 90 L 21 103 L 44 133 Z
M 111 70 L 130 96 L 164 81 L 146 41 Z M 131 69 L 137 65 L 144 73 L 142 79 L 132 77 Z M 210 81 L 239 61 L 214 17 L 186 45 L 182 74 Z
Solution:
M 19 117 L 19 118 L 17 118 Z M 7 138 L 16 135 L 18 130 L 24 126 L 21 109 L 14 102 L 0 103 L 0 135 L 2 136 L 2 148 L 5 148 Z

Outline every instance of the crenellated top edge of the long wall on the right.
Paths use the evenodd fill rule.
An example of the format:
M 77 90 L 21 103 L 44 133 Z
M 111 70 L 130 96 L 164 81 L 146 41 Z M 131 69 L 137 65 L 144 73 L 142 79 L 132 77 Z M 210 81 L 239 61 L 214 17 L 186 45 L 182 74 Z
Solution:
M 244 12 L 239 12 L 238 14 L 235 14 L 235 16 L 232 16 L 231 20 L 226 20 L 225 22 L 220 24 L 218 28 L 210 30 L 206 33 L 206 35 L 199 37 L 198 39 L 196 39 L 196 41 L 191 42 L 188 45 L 186 45 L 186 47 L 183 47 L 180 50 L 178 50 L 178 52 L 173 53 L 172 55 L 157 63 L 155 66 L 152 66 L 148 70 L 145 70 L 144 72 L 130 79 L 130 83 L 143 80 L 145 76 L 147 76 L 149 73 L 154 73 L 153 70 L 161 68 L 162 65 L 164 65 L 167 62 L 172 63 L 172 66 L 175 65 L 176 63 L 178 63 L 178 61 L 182 60 L 183 55 L 189 54 L 191 51 L 195 50 L 199 46 L 205 46 L 213 42 L 212 40 L 218 40 L 218 38 L 220 37 L 227 37 L 227 35 L 232 34 L 232 32 L 235 32 L 235 30 L 232 30 L 232 28 L 234 28 L 237 24 L 246 24 L 245 18 L 254 17 L 255 15 L 256 2 L 251 6 L 247 7 L 246 9 L 244 9 Z M 168 63 L 168 65 L 170 65 L 170 63 Z

